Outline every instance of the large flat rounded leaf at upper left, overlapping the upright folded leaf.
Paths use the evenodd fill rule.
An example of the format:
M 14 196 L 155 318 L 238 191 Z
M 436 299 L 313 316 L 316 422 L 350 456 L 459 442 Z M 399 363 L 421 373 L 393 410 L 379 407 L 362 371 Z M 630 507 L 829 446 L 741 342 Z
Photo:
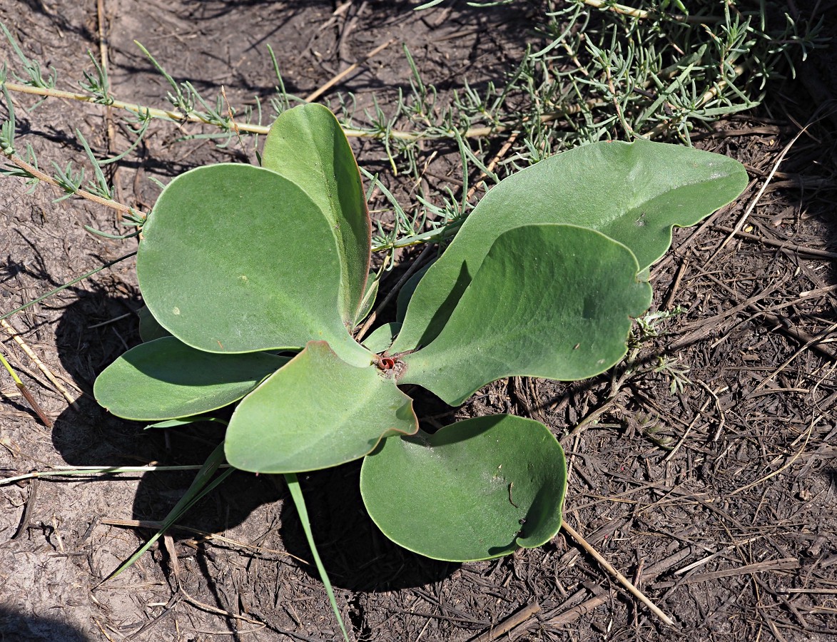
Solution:
M 225 163 L 181 174 L 142 230 L 136 274 L 146 306 L 208 352 L 301 349 L 323 340 L 368 363 L 338 311 L 331 224 L 293 182 Z

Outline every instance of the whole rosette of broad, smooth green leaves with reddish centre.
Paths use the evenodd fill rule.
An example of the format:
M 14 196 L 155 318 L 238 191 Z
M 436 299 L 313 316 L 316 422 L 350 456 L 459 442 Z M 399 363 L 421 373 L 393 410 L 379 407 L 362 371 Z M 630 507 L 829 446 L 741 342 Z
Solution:
M 377 284 L 367 283 L 371 224 L 339 124 L 320 105 L 288 110 L 263 160 L 198 167 L 164 189 L 136 270 L 165 336 L 107 367 L 96 398 L 126 419 L 181 424 L 237 403 L 224 450 L 241 470 L 365 458 L 362 496 L 377 526 L 451 561 L 555 535 L 562 449 L 542 424 L 508 415 L 427 434 L 399 385 L 459 405 L 503 377 L 604 372 L 650 306 L 642 275 L 671 229 L 747 181 L 726 157 L 644 140 L 547 158 L 492 188 L 405 290 L 399 322 L 361 344 L 353 332 Z

